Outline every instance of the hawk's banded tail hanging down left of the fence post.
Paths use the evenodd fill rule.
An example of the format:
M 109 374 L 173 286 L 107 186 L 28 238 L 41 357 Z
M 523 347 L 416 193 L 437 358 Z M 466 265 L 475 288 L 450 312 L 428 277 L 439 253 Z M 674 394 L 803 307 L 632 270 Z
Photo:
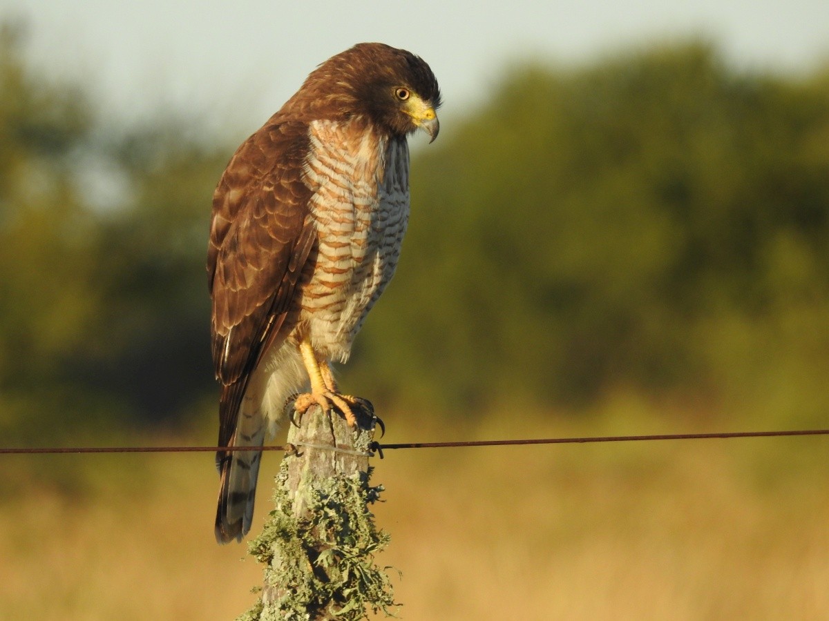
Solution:
M 240 416 L 243 418 L 244 416 Z M 265 426 L 261 416 L 253 432 L 246 434 L 241 427 L 230 439 L 230 446 L 261 446 L 264 444 Z M 246 422 L 252 422 L 250 420 Z M 228 543 L 235 539 L 242 541 L 254 517 L 254 502 L 256 499 L 256 478 L 259 475 L 259 462 L 262 460 L 260 450 L 234 450 L 217 453 L 216 465 L 221 474 L 219 488 L 219 505 L 216 508 L 216 541 Z

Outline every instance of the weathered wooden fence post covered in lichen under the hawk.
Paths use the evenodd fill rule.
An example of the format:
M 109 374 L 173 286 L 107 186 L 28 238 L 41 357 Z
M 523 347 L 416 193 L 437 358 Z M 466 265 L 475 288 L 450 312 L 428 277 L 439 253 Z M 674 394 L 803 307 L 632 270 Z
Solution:
M 365 619 L 366 609 L 391 613 L 385 571 L 374 556 L 388 543 L 367 505 L 368 458 L 376 419 L 356 412 L 349 427 L 337 412 L 308 409 L 288 431 L 296 451 L 285 455 L 275 508 L 250 553 L 264 564 L 262 596 L 237 621 Z

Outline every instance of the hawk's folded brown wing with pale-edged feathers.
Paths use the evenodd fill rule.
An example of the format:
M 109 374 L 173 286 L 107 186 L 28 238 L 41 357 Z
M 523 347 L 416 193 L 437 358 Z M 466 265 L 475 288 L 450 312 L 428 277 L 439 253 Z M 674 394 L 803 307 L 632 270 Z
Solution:
M 233 436 L 264 350 L 293 329 L 284 325 L 285 315 L 316 238 L 306 222 L 307 153 L 305 123 L 272 120 L 235 152 L 213 195 L 207 272 L 213 361 L 222 384 L 220 446 Z

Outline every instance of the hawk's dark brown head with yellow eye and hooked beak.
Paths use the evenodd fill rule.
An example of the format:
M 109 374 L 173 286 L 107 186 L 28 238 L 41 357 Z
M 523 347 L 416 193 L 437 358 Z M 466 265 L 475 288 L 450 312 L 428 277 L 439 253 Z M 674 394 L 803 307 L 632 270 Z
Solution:
M 319 65 L 284 111 L 313 118 L 361 115 L 382 131 L 404 136 L 440 125 L 438 80 L 424 60 L 383 43 L 358 43 Z

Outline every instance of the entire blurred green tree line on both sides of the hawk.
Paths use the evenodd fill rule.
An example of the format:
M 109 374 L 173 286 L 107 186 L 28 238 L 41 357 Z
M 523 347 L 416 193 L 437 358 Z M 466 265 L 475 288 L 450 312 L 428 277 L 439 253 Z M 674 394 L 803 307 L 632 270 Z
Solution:
M 234 146 L 192 119 L 104 128 L 20 47 L 4 29 L 0 431 L 180 421 L 215 400 L 203 266 Z M 829 409 L 827 71 L 750 74 L 701 44 L 515 65 L 443 121 L 349 392 L 435 415 L 619 388 Z

